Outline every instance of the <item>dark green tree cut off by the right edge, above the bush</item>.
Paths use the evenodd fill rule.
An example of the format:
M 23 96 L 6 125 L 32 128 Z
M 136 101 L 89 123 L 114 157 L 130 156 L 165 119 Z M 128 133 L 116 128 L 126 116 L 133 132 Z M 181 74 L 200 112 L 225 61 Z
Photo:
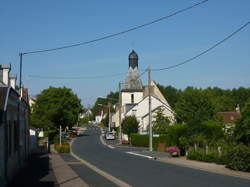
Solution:
M 250 145 L 250 100 L 245 104 L 241 115 L 236 121 L 234 136 L 237 141 Z

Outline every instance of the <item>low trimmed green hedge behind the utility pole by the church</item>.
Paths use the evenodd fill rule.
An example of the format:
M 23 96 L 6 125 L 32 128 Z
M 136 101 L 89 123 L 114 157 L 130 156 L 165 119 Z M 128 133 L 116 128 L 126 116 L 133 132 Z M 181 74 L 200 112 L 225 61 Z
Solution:
M 153 137 L 153 148 L 156 149 L 159 143 L 165 143 L 167 146 L 167 136 L 160 135 L 159 137 Z M 131 134 L 131 144 L 137 147 L 148 147 L 149 146 L 149 135 L 145 134 Z

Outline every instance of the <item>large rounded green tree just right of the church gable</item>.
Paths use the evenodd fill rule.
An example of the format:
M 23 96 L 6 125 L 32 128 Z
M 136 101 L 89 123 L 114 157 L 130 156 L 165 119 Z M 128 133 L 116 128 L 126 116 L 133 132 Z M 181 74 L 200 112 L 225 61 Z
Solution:
M 201 90 L 188 87 L 178 100 L 175 112 L 178 122 L 194 127 L 210 120 L 214 115 L 214 108 L 208 96 Z

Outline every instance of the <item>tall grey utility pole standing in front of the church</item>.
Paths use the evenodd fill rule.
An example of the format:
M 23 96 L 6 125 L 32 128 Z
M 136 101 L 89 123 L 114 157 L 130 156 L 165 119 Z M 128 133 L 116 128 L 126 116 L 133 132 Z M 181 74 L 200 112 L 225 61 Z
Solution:
M 151 68 L 148 67 L 148 121 L 149 121 L 149 151 L 153 151 L 152 110 L 151 110 Z

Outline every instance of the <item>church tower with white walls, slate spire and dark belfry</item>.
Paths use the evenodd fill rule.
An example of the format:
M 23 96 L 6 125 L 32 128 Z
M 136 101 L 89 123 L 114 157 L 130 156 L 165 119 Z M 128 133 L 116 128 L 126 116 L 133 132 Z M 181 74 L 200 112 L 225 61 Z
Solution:
M 129 54 L 128 60 L 128 75 L 122 89 L 122 105 L 126 105 L 126 110 L 143 99 L 143 87 L 138 72 L 138 55 L 134 50 Z

